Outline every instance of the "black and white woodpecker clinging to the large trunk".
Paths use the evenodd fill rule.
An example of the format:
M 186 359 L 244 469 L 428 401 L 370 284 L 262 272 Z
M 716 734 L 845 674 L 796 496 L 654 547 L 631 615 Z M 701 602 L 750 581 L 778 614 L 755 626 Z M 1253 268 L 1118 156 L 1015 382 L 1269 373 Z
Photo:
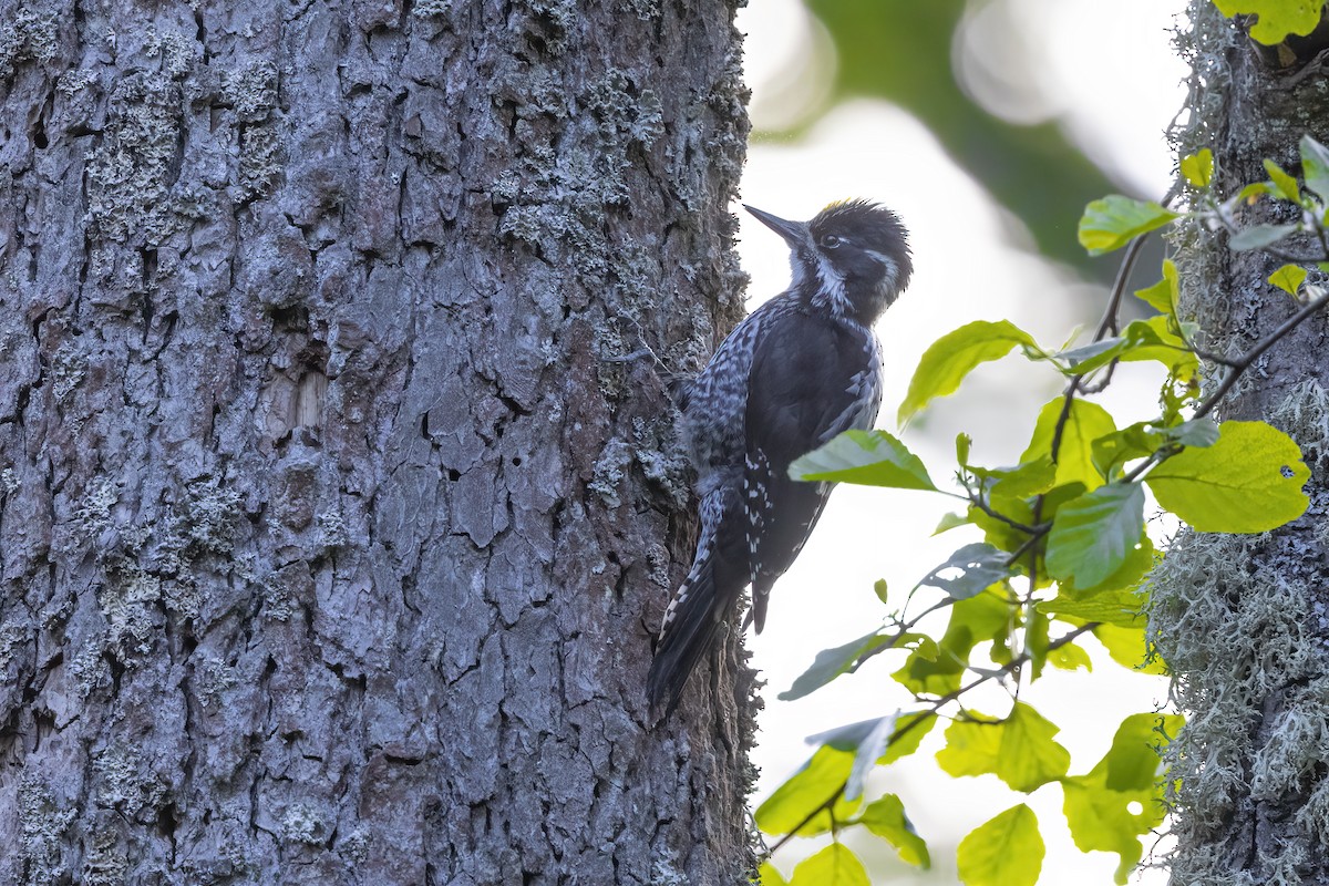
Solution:
M 744 209 L 788 243 L 793 280 L 734 328 L 706 369 L 675 384 L 702 530 L 647 680 L 651 705 L 668 711 L 748 584 L 762 631 L 771 586 L 831 494 L 831 484 L 791 480 L 789 462 L 843 430 L 872 428 L 881 404 L 872 324 L 913 271 L 904 224 L 882 206 L 832 203 L 811 222 Z

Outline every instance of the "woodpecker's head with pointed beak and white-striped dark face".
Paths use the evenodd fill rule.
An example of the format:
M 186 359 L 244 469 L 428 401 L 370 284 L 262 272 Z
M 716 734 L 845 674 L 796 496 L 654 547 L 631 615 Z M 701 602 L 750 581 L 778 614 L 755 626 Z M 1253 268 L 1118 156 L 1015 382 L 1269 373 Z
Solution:
M 811 222 L 744 206 L 789 244 L 791 288 L 813 307 L 870 325 L 909 284 L 913 260 L 900 217 L 869 201 L 831 203 Z

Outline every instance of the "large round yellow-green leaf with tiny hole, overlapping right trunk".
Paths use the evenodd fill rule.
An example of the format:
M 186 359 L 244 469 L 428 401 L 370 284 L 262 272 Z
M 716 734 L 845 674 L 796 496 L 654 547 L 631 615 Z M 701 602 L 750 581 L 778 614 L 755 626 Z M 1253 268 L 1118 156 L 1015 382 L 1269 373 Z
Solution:
M 1310 477 L 1288 434 L 1263 421 L 1225 421 L 1207 449 L 1184 449 L 1144 481 L 1159 505 L 1201 533 L 1264 533 L 1305 513 Z

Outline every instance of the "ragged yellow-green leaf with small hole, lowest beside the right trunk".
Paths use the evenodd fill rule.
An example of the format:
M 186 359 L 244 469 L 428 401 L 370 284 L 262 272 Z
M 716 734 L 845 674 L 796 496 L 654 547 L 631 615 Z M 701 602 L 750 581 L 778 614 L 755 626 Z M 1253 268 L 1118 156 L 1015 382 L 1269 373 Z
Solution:
M 1087 776 L 1062 782 L 1066 824 L 1075 846 L 1120 855 L 1118 883 L 1127 882 L 1140 859 L 1139 836 L 1163 822 L 1159 733 L 1175 735 L 1180 725 L 1181 717 L 1175 715 L 1128 716 L 1099 764 Z

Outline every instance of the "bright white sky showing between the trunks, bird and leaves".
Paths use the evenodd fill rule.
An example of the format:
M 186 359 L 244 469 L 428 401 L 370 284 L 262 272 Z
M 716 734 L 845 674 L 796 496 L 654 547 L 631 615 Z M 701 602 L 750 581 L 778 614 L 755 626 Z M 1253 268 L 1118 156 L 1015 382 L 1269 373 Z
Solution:
M 1174 158 L 1163 130 L 1184 101 L 1184 65 L 1171 46 L 1175 16 L 1184 0 L 986 0 L 970 3 L 957 43 L 987 56 L 961 62 L 970 92 L 1013 120 L 1057 118 L 1123 189 L 1162 195 Z M 799 0 L 751 0 L 739 27 L 748 35 L 747 72 L 754 89 L 754 122 L 773 128 L 797 120 L 800 102 L 824 90 L 812 58 L 827 58 L 828 44 Z M 1092 39 L 1087 39 L 1092 35 Z M 1033 58 L 1034 81 L 1011 80 L 1019 65 L 998 50 Z M 997 52 L 997 54 L 991 54 Z M 1131 70 L 1116 70 L 1128 58 Z M 820 77 L 820 78 L 819 78 Z M 788 88 L 789 82 L 799 84 Z M 781 84 L 784 86 L 781 88 Z M 1007 317 L 1046 343 L 1059 344 L 1086 304 L 1084 283 L 1033 255 L 1019 223 L 993 205 L 982 187 L 957 169 L 930 133 L 905 112 L 880 102 L 844 105 L 799 142 L 755 145 L 743 179 L 743 199 L 785 218 L 809 218 L 832 199 L 877 199 L 912 231 L 916 274 L 909 291 L 878 327 L 886 355 L 886 387 L 878 426 L 892 432 L 896 406 L 922 349 L 974 319 Z M 788 255 L 779 238 L 739 210 L 742 258 L 752 275 L 750 307 L 788 282 Z M 1074 236 L 1078 219 L 1067 219 Z M 1080 290 L 1080 291 L 1075 291 Z M 1106 294 L 1104 294 L 1106 295 Z M 1139 367 L 1132 367 L 1139 369 Z M 1159 379 L 1148 371 L 1118 373 L 1120 392 L 1110 409 L 1154 402 Z M 954 437 L 975 437 L 974 458 L 1014 464 L 1029 440 L 1037 408 L 1059 383 L 1018 357 L 990 364 L 960 395 L 936 404 L 902 438 L 944 482 L 954 462 Z M 1122 405 L 1119 405 L 1122 404 Z M 1136 406 L 1139 409 L 1139 406 Z M 1007 421 L 1009 416 L 1018 416 Z M 1119 424 L 1150 414 L 1118 414 Z M 759 798 L 791 774 L 811 752 L 803 739 L 845 723 L 880 716 L 909 703 L 890 679 L 896 655 L 878 656 L 857 675 L 841 677 L 813 696 L 785 703 L 789 687 L 819 650 L 840 646 L 874 628 L 884 614 L 872 583 L 885 578 L 896 602 L 956 546 L 973 541 L 965 530 L 932 538 L 932 527 L 953 502 L 925 493 L 840 487 L 795 567 L 775 590 L 762 636 L 750 636 L 754 664 L 764 672 L 767 709 L 762 716 Z M 944 624 L 944 623 L 942 623 Z M 1087 772 L 1107 751 L 1128 713 L 1155 709 L 1167 695 L 1162 679 L 1126 672 L 1092 640 L 1095 673 L 1045 676 L 1026 700 L 1062 727 L 1058 740 L 1071 751 L 1071 773 Z M 975 707 L 1003 713 L 1001 697 Z M 1061 813 L 1062 794 L 1045 786 L 1033 797 L 1010 792 L 994 776 L 952 780 L 933 762 L 938 728 L 922 751 L 878 776 L 877 789 L 898 793 L 914 826 L 929 842 L 933 870 L 916 874 L 893 854 L 870 854 L 877 882 L 956 883 L 954 846 L 974 826 L 1021 801 L 1039 818 L 1047 840 L 1042 883 L 1111 883 L 1116 855 L 1079 853 Z M 788 874 L 801 853 L 820 842 L 795 841 L 776 865 Z M 1151 846 L 1146 845 L 1146 851 Z M 1160 871 L 1134 881 L 1166 882 Z

